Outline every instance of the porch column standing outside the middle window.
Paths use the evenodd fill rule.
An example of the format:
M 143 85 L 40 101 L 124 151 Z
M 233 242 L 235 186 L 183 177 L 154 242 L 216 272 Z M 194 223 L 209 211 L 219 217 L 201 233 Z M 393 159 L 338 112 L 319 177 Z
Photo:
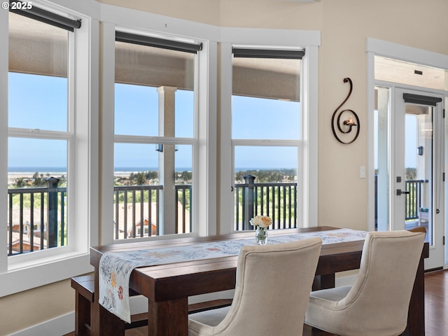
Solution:
M 174 94 L 176 87 L 158 87 L 159 94 L 159 136 L 174 137 Z M 177 204 L 175 202 L 176 189 L 174 186 L 174 144 L 163 146 L 163 152 L 159 153 L 159 181 L 163 186 L 160 209 L 160 235 L 176 233 L 175 214 Z

